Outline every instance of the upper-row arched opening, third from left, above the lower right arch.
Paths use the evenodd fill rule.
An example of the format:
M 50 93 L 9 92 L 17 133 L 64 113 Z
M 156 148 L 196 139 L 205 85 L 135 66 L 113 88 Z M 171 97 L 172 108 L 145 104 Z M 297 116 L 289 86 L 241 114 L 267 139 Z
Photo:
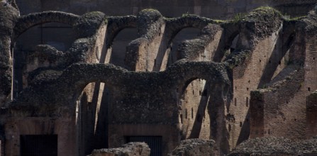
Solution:
M 167 48 L 167 60 L 162 60 L 162 65 L 166 65 L 168 67 L 169 65 L 172 65 L 174 62 L 177 62 L 177 60 L 180 59 L 180 53 L 178 51 L 179 45 L 184 40 L 191 40 L 197 37 L 199 35 L 199 28 L 183 28 L 180 30 L 177 35 L 174 36 L 172 39 L 172 42 L 169 44 Z M 166 68 L 164 67 L 164 68 Z

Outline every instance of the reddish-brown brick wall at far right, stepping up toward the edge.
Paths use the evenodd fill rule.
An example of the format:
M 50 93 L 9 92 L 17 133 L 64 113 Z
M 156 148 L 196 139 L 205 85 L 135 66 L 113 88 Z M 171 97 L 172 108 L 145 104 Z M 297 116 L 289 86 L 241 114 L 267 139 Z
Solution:
M 315 50 L 310 35 L 316 24 L 312 16 L 315 16 L 313 12 L 308 15 L 309 22 L 303 20 L 296 25 L 288 67 L 277 74 L 268 89 L 252 93 L 251 138 L 269 135 L 306 138 L 306 122 L 310 121 L 306 118 L 303 99 L 316 89 L 316 84 L 311 83 L 316 78 Z

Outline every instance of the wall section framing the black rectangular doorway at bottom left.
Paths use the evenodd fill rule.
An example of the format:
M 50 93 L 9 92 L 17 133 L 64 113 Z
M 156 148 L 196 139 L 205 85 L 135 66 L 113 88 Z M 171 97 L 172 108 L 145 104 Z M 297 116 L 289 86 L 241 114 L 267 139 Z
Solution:
M 20 118 L 7 118 L 6 131 L 6 155 L 20 155 L 21 135 L 57 135 L 57 155 L 79 155 L 77 152 L 76 126 L 72 118 L 49 118 L 49 117 L 25 117 L 22 112 Z

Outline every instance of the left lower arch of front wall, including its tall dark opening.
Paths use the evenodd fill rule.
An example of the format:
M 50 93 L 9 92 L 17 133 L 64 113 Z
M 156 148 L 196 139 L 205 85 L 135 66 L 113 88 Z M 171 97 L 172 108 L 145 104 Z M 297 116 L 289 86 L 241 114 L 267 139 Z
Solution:
M 79 140 L 77 150 L 81 155 L 87 155 L 96 148 L 108 147 L 108 135 L 105 135 L 108 126 L 104 126 L 102 121 L 109 120 L 107 112 L 108 105 L 111 103 L 111 95 L 108 94 L 111 94 L 115 88 L 113 82 L 120 81 L 118 77 L 122 77 L 123 71 L 124 69 L 118 69 L 110 64 L 81 64 L 72 65 L 61 76 L 62 84 L 65 84 L 62 82 L 63 79 L 67 81 L 69 79 L 67 77 L 70 75 L 77 77 L 67 82 L 71 85 L 65 92 L 72 94 L 72 99 L 69 99 L 68 103 L 71 105 L 68 106 L 70 108 L 69 116 L 74 118 L 77 123 L 74 129 Z M 87 74 L 83 75 L 83 72 L 87 72 Z M 95 84 L 99 84 L 99 86 Z M 107 99 L 104 99 L 104 96 L 107 96 Z

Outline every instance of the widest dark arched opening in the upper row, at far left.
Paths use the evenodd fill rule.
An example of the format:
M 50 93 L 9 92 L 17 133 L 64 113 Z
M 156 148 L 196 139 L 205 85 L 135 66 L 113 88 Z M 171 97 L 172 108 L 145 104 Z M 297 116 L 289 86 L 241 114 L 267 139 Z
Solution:
M 26 69 L 26 64 L 30 61 L 30 56 L 36 55 L 36 45 L 45 44 L 56 50 L 66 51 L 74 40 L 75 33 L 72 26 L 64 23 L 44 23 L 33 26 L 22 33 L 16 40 L 13 49 L 13 97 L 28 86 L 29 71 Z M 45 63 L 48 62 L 43 62 L 43 64 Z

